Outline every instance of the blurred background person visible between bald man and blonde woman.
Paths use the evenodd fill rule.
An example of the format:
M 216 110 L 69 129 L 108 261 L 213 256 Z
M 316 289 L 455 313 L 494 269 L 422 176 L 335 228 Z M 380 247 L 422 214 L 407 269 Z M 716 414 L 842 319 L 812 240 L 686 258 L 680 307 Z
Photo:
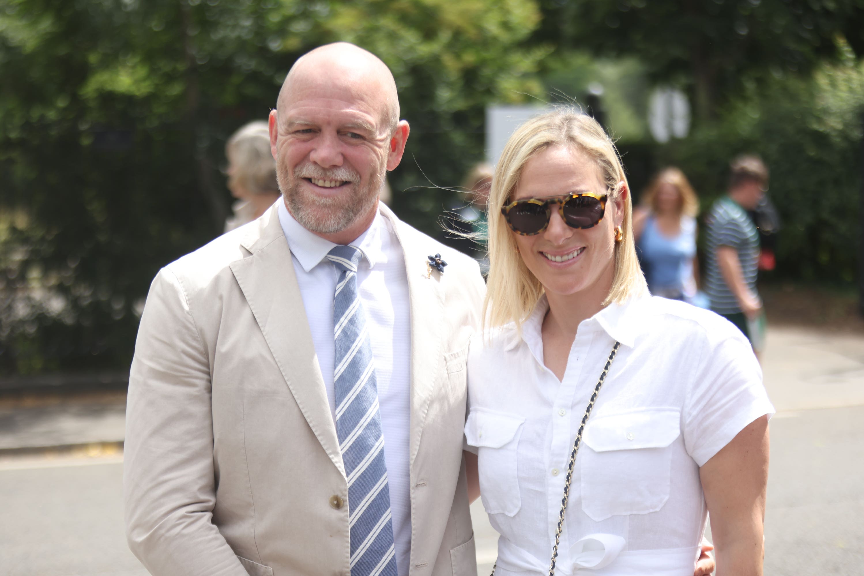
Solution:
M 489 269 L 486 257 L 486 203 L 492 187 L 492 166 L 477 164 L 462 183 L 460 201 L 449 206 L 443 217 L 442 244 L 467 254 Z

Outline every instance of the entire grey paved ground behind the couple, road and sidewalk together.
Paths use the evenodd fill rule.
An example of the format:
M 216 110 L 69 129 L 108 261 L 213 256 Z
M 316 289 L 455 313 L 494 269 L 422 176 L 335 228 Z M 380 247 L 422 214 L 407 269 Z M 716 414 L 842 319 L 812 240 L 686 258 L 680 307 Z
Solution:
M 864 336 L 775 328 L 762 361 L 778 408 L 765 573 L 864 574 Z M 48 459 L 8 450 L 122 440 L 121 400 L 72 409 L 0 403 L 0 574 L 146 574 L 125 544 L 122 456 L 97 449 L 89 452 L 97 458 Z M 485 576 L 498 535 L 480 501 L 472 516 Z

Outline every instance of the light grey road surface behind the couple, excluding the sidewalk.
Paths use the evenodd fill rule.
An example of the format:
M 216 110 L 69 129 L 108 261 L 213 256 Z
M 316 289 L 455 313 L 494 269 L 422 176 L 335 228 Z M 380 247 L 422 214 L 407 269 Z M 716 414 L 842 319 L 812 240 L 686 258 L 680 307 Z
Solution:
M 766 575 L 864 573 L 864 407 L 781 413 L 772 421 Z M 45 467 L 49 465 L 49 467 Z M 123 535 L 115 459 L 0 463 L 0 573 L 138 576 Z M 497 535 L 474 503 L 480 576 Z

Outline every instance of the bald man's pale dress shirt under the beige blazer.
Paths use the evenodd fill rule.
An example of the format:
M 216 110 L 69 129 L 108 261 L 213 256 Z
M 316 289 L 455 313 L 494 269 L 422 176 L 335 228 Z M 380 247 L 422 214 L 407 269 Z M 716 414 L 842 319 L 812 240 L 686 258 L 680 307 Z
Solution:
M 379 205 L 379 210 L 387 208 Z M 339 272 L 325 256 L 336 244 L 303 228 L 283 201 L 279 202 L 279 221 L 291 249 L 303 307 L 327 387 L 330 413 L 335 421 L 333 304 Z M 375 360 L 397 570 L 400 576 L 407 576 L 411 548 L 408 276 L 402 246 L 391 221 L 380 212 L 369 229 L 351 244 L 363 252 L 357 281 Z

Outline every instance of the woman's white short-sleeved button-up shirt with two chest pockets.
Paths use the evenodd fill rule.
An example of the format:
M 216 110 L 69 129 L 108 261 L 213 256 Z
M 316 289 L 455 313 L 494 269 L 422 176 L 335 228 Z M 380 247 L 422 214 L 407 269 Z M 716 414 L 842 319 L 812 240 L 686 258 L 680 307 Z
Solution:
M 584 320 L 562 381 L 543 364 L 543 298 L 524 322 L 468 354 L 469 450 L 498 530 L 496 574 L 549 571 L 576 431 L 585 427 L 556 573 L 692 576 L 708 516 L 699 467 L 774 412 L 741 332 L 715 313 L 657 297 Z M 583 572 L 584 571 L 584 572 Z

